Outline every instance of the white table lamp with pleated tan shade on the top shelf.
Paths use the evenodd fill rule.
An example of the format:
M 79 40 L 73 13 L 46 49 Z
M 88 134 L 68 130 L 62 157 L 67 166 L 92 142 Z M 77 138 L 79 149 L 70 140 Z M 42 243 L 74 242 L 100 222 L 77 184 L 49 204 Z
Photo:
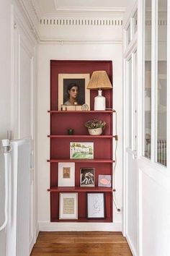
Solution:
M 109 81 L 107 72 L 94 71 L 93 74 L 91 74 L 91 79 L 89 80 L 87 89 L 98 90 L 98 95 L 97 97 L 94 98 L 94 110 L 106 109 L 106 98 L 102 96 L 102 90 L 111 89 L 111 88 L 112 88 L 112 84 Z

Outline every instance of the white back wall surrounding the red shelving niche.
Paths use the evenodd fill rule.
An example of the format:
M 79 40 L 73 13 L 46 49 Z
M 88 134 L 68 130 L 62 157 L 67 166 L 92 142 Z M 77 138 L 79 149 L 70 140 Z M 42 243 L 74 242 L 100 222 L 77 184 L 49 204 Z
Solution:
M 113 106 L 117 110 L 117 203 L 122 205 L 122 45 L 73 43 L 43 44 L 37 48 L 37 187 L 38 222 L 40 230 L 121 230 L 122 215 L 114 209 L 114 223 L 50 223 L 50 59 L 112 60 L 113 61 Z

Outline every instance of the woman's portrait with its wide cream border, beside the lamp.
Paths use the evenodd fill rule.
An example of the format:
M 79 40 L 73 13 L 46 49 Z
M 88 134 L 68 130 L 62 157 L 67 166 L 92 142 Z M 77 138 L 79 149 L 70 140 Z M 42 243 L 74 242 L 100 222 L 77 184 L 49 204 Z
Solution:
M 81 110 L 85 103 L 90 106 L 90 90 L 86 87 L 89 74 L 58 74 L 58 110 Z

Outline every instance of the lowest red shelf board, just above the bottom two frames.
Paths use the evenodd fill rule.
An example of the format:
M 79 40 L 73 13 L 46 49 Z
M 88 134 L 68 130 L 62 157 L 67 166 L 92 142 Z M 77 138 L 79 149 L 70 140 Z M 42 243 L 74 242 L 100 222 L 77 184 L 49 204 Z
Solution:
M 50 192 L 112 192 L 112 187 L 51 187 Z

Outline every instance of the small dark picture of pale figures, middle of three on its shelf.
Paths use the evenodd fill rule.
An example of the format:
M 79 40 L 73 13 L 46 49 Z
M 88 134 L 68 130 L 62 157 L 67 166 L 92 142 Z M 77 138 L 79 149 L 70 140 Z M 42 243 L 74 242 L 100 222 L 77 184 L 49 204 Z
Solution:
M 94 168 L 80 169 L 80 186 L 94 187 Z

